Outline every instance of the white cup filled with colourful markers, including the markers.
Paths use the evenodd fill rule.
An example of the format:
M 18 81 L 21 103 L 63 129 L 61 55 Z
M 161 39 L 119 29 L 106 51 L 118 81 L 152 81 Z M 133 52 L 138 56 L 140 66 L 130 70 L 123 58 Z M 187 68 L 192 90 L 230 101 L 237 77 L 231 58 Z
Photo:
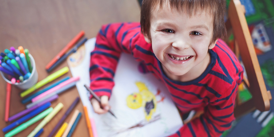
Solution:
M 0 73 L 3 79 L 19 89 L 26 90 L 38 81 L 35 61 L 22 46 L 5 49 L 0 53 Z

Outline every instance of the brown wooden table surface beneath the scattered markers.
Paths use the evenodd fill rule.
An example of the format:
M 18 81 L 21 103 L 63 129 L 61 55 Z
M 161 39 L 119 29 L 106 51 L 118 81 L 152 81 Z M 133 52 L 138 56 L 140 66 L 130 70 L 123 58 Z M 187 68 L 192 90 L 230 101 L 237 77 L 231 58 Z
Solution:
M 29 49 L 36 62 L 38 81 L 40 81 L 51 73 L 68 66 L 66 62 L 63 62 L 51 73 L 45 70 L 47 63 L 81 30 L 84 30 L 85 36 L 90 39 L 97 35 L 102 24 L 139 22 L 139 16 L 140 8 L 137 0 L 0 0 L 0 51 L 3 52 L 11 46 L 16 48 L 23 46 Z M 66 76 L 72 75 L 68 72 L 39 90 Z M 12 86 L 9 116 L 25 109 L 25 105 L 20 102 L 22 98 L 19 93 L 21 92 L 22 90 Z M 52 102 L 52 107 L 59 102 L 63 103 L 64 107 L 44 126 L 41 136 L 49 135 L 76 97 L 79 97 L 79 94 L 74 87 Z M 0 78 L 1 130 L 11 124 L 11 122 L 4 121 L 5 98 L 6 82 Z M 82 102 L 79 102 L 75 109 L 83 112 Z M 65 119 L 66 122 L 70 120 L 72 113 Z M 40 121 L 15 136 L 27 136 Z M 1 131 L 0 136 L 4 135 L 5 133 Z M 79 121 L 72 136 L 89 136 L 84 117 Z

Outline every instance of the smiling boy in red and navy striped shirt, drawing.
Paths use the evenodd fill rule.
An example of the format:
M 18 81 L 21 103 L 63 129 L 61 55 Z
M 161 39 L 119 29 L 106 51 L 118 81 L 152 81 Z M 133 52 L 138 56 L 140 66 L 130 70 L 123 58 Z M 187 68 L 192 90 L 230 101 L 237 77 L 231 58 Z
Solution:
M 225 42 L 225 0 L 143 0 L 140 23 L 102 26 L 90 62 L 90 88 L 103 114 L 122 52 L 141 61 L 168 88 L 180 113 L 204 111 L 171 136 L 217 137 L 234 120 L 243 68 Z

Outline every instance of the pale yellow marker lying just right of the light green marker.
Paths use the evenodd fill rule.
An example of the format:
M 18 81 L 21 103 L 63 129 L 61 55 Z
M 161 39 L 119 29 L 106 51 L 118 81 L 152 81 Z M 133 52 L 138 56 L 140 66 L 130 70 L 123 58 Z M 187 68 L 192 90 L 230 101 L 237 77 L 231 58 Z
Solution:
M 37 125 L 36 128 L 27 136 L 27 137 L 33 137 L 41 128 L 43 128 L 51 119 L 64 107 L 64 105 L 60 102 L 58 103 L 53 111 L 51 111 L 50 114 L 48 114 L 40 123 Z

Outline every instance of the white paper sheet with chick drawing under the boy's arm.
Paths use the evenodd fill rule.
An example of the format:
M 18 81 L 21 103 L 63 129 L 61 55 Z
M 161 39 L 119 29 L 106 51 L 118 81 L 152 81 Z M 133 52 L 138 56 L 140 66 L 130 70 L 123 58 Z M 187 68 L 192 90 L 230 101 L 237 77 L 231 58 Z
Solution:
M 115 86 L 109 100 L 111 110 L 118 119 L 110 113 L 101 115 L 94 113 L 88 100 L 88 92 L 83 86 L 84 84 L 89 86 L 90 83 L 90 52 L 94 49 L 94 44 L 95 38 L 89 39 L 85 46 L 80 47 L 67 61 L 72 76 L 80 76 L 76 87 L 83 105 L 87 106 L 90 117 L 96 122 L 98 136 L 162 137 L 174 134 L 183 123 L 167 88 L 153 74 L 140 73 L 139 63 L 129 54 L 121 54 L 114 77 Z M 139 89 L 136 82 L 139 82 L 139 87 L 147 89 Z M 141 100 L 136 97 L 141 97 Z M 127 98 L 128 104 L 135 105 L 135 109 L 128 107 Z M 153 104 L 154 108 L 145 109 L 146 104 Z M 145 110 L 152 114 L 151 117 L 145 116 L 148 114 Z M 141 121 L 142 127 L 127 129 Z

